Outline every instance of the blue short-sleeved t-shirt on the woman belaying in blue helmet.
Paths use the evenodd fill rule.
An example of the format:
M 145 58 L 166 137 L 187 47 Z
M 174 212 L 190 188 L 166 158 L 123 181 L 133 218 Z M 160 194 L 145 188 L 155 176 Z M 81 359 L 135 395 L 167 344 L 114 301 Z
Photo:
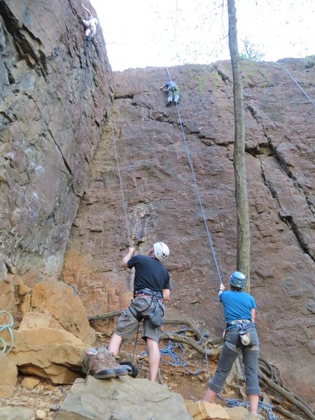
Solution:
M 228 290 L 220 293 L 219 300 L 223 304 L 226 323 L 235 319 L 251 320 L 251 309 L 255 308 L 256 304 L 248 293 Z

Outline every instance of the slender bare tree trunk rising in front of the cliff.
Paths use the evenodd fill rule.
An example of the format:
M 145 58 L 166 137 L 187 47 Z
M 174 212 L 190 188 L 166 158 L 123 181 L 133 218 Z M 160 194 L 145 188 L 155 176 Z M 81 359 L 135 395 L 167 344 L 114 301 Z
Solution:
M 250 232 L 245 161 L 245 126 L 241 64 L 237 46 L 237 19 L 235 0 L 228 0 L 229 48 L 233 71 L 235 113 L 235 199 L 237 206 L 237 270 L 247 277 L 246 290 L 250 289 Z

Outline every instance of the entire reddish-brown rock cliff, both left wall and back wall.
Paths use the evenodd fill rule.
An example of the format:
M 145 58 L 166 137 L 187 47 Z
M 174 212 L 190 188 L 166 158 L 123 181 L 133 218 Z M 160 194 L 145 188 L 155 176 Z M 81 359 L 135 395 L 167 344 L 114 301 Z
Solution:
M 132 273 L 120 258 L 131 242 L 147 253 L 162 240 L 168 313 L 221 335 L 218 273 L 183 134 L 226 284 L 237 240 L 230 64 L 169 69 L 182 132 L 159 90 L 167 70 L 112 75 L 101 31 L 83 41 L 79 1 L 0 0 L 0 12 L 0 307 L 12 304 L 14 284 L 61 273 L 88 314 L 123 309 Z M 314 67 L 281 66 L 314 99 Z M 262 354 L 314 403 L 314 102 L 281 66 L 243 67 L 251 293 Z

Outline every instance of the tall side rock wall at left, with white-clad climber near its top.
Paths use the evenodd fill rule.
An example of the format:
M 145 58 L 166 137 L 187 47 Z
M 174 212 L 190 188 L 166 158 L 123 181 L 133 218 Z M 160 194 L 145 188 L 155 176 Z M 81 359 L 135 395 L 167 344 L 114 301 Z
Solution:
M 91 6 L 92 9 L 92 6 Z M 58 275 L 111 102 L 78 0 L 0 0 L 0 279 Z

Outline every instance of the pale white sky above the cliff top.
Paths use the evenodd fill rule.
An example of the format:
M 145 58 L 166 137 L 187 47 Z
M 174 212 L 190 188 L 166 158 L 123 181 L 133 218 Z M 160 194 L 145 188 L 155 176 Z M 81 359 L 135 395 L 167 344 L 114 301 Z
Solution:
M 90 1 L 113 71 L 230 59 L 227 0 Z M 265 61 L 315 54 L 314 1 L 235 0 L 235 6 L 240 53 L 247 40 Z

